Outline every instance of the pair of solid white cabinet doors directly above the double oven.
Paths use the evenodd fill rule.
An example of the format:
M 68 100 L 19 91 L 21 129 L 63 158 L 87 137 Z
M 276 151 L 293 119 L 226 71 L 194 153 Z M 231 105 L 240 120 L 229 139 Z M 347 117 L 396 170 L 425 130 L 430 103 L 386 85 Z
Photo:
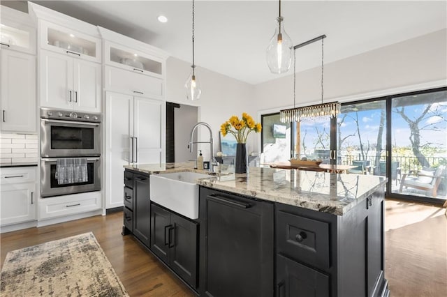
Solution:
M 101 112 L 101 64 L 40 52 L 41 107 Z

